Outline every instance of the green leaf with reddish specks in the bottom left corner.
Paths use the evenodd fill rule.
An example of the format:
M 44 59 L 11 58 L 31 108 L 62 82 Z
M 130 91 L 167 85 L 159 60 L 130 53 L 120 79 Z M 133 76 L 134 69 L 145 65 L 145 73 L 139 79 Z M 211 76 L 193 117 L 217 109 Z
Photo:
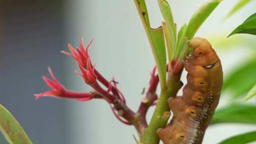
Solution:
M 0 130 L 9 144 L 32 144 L 18 121 L 2 105 L 0 105 Z

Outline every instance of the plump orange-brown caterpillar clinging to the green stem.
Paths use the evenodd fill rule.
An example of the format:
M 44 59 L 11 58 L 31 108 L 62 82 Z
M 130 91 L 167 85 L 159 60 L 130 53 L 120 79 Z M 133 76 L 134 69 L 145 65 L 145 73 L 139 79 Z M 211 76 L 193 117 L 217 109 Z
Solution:
M 192 38 L 189 46 L 193 51 L 184 62 L 188 82 L 183 96 L 168 99 L 174 118 L 157 130 L 164 144 L 201 144 L 219 103 L 223 72 L 218 55 L 200 37 Z

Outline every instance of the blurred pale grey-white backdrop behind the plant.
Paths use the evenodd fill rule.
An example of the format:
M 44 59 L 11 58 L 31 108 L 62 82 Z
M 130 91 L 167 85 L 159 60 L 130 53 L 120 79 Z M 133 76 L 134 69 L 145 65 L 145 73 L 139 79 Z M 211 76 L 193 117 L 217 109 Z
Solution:
M 206 0 L 169 0 L 174 21 L 179 29 L 187 23 L 193 12 Z M 236 13 L 224 23 L 222 18 L 238 0 L 224 0 L 201 26 L 196 36 L 211 41 L 213 36 L 225 38 L 255 12 L 256 0 Z M 157 0 L 146 0 L 152 27 L 159 27 L 163 21 Z M 66 0 L 66 38 L 73 46 L 79 45 L 83 36 L 87 44 L 95 38 L 90 54 L 96 68 L 109 80 L 115 76 L 119 88 L 125 94 L 128 106 L 137 110 L 142 89 L 148 87 L 149 72 L 154 66 L 153 55 L 148 44 L 144 28 L 137 14 L 133 0 Z M 214 47 L 214 43 L 212 44 Z M 67 50 L 67 46 L 66 46 Z M 230 54 L 217 53 L 222 60 L 224 75 L 230 68 L 247 56 L 243 50 L 236 49 Z M 239 57 L 237 56 L 239 53 Z M 73 70 L 77 69 L 71 58 L 65 58 L 67 88 L 89 91 L 82 79 Z M 185 83 L 185 73 L 182 81 Z M 181 94 L 181 93 L 180 93 Z M 148 118 L 151 117 L 148 113 Z M 69 102 L 65 109 L 70 125 L 69 144 L 135 144 L 132 135 L 137 135 L 132 126 L 121 124 L 103 100 L 90 102 Z M 251 125 L 222 124 L 207 129 L 203 144 L 216 144 L 228 136 L 256 129 Z

